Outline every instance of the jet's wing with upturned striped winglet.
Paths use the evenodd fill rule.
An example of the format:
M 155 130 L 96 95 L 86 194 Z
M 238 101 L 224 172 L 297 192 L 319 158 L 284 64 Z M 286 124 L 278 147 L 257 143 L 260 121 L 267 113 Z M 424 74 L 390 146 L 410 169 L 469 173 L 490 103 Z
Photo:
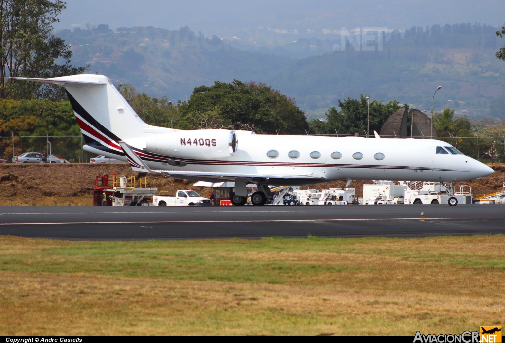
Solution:
M 312 183 L 311 181 L 324 180 L 321 175 L 313 173 L 293 173 L 293 174 L 242 174 L 242 173 L 226 173 L 226 172 L 197 172 L 197 171 L 186 171 L 186 170 L 153 170 L 150 169 L 144 161 L 138 157 L 137 154 L 130 148 L 128 144 L 123 141 L 118 142 L 123 149 L 125 156 L 130 164 L 131 169 L 137 172 L 144 173 L 158 173 L 165 174 L 167 176 L 180 177 L 190 180 L 201 180 L 201 181 L 251 181 L 251 182 L 265 182 L 267 179 L 272 180 L 290 180 L 300 182 Z

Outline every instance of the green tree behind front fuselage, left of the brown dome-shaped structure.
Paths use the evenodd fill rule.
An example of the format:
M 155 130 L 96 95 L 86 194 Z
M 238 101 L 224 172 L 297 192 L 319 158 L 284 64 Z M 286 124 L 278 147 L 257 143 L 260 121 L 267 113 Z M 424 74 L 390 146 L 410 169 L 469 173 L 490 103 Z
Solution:
M 360 99 L 347 98 L 338 100 L 340 111 L 335 107 L 329 108 L 326 112 L 327 121 L 313 119 L 311 127 L 317 134 L 367 134 L 368 129 L 368 101 L 365 95 L 360 95 Z M 382 125 L 387 118 L 400 109 L 398 101 L 389 101 L 383 104 L 382 101 L 374 100 L 370 102 L 370 132 L 380 132 Z

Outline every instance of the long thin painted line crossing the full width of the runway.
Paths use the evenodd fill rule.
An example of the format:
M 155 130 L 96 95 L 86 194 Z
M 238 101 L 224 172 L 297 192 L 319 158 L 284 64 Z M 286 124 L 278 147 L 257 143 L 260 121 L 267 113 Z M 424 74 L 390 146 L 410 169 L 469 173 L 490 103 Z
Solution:
M 505 217 L 496 218 L 429 218 L 435 220 L 505 220 Z M 1 223 L 0 226 L 22 225 L 111 225 L 111 224 L 196 224 L 196 223 L 296 223 L 296 222 L 370 222 L 370 221 L 399 221 L 417 220 L 419 218 L 372 218 L 372 219 L 288 219 L 288 220 L 222 220 L 222 221 L 163 221 L 163 222 L 70 222 L 70 223 Z

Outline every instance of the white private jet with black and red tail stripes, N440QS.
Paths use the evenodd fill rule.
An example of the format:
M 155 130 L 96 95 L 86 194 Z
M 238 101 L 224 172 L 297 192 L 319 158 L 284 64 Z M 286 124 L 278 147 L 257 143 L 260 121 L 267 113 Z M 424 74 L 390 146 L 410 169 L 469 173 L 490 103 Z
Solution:
M 146 124 L 102 75 L 12 78 L 65 87 L 84 149 L 130 163 L 135 171 L 190 180 L 234 181 L 232 202 L 263 205 L 268 185 L 334 180 L 465 181 L 494 171 L 438 140 L 266 135 L 225 129 L 177 130 Z M 348 184 L 347 183 L 347 184 Z

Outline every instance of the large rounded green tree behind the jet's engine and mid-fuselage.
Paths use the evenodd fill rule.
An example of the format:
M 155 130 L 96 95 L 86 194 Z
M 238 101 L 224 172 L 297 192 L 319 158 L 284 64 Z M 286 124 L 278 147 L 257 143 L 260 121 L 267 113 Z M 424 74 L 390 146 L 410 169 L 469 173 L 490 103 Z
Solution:
M 306 134 L 309 125 L 294 99 L 262 83 L 234 80 L 196 87 L 189 101 L 180 106 L 179 128 Z

